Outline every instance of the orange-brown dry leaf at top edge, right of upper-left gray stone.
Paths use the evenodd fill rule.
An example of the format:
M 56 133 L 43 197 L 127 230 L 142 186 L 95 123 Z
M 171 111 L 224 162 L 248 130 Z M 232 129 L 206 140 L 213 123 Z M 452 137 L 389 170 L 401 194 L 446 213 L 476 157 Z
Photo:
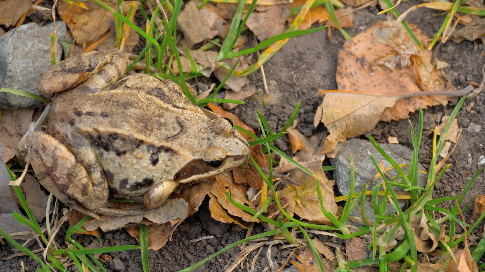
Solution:
M 108 5 L 111 2 L 104 0 Z M 96 41 L 104 33 L 110 30 L 113 24 L 113 13 L 99 6 L 94 1 L 85 2 L 88 9 L 83 9 L 77 5 L 59 1 L 57 12 L 74 37 L 77 44 L 84 44 Z

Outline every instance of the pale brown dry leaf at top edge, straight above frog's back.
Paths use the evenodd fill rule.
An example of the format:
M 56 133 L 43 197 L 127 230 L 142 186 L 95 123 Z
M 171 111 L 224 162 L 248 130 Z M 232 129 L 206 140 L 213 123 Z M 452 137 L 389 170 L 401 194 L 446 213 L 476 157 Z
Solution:
M 195 6 L 194 1 L 185 3 L 184 9 L 178 15 L 177 26 L 183 32 L 183 43 L 189 49 L 205 39 L 213 38 L 217 34 L 216 31 L 210 30 L 205 18 Z

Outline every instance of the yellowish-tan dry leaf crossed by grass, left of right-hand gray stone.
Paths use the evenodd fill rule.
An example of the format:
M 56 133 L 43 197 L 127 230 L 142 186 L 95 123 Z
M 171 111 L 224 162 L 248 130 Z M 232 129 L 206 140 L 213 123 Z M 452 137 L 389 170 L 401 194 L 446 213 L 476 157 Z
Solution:
M 330 181 L 325 176 L 321 164 L 314 164 L 307 167 L 314 176 L 310 176 L 300 169 L 290 172 L 290 177 L 294 180 L 301 181 L 300 186 L 294 186 L 298 200 L 296 203 L 295 213 L 308 221 L 318 224 L 331 224 L 325 217 L 320 207 L 317 193 L 317 180 L 320 182 L 322 192 L 323 207 L 338 217 L 338 206 L 334 200 L 333 187 L 335 181 Z

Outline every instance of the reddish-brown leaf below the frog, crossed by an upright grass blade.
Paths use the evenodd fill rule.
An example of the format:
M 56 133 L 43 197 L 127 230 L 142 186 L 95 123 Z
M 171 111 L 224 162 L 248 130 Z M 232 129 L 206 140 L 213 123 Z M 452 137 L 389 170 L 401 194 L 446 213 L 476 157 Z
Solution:
M 167 222 L 164 224 L 149 224 L 146 225 L 146 231 L 148 233 L 148 249 L 159 250 L 161 249 L 167 241 L 172 236 L 174 230 L 180 225 L 183 219 L 177 220 L 175 222 Z M 149 222 L 144 222 L 149 223 Z M 136 241 L 140 242 L 140 225 L 131 225 L 125 227 L 129 235 L 134 237 Z

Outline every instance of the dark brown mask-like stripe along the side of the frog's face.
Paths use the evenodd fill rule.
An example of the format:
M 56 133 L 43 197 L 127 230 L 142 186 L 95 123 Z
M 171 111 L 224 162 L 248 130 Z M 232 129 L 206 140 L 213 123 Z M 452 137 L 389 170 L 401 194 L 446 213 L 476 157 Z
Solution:
M 187 181 L 192 181 L 199 179 L 201 177 L 197 177 L 198 175 L 206 174 L 209 172 L 214 171 L 214 174 L 219 173 L 221 168 L 226 164 L 226 161 L 228 159 L 233 159 L 235 161 L 245 161 L 247 159 L 246 155 L 227 155 L 224 163 L 219 166 L 218 168 L 212 168 L 207 165 L 206 161 L 203 159 L 195 159 L 187 163 L 185 166 L 182 167 L 182 169 L 178 170 L 178 172 L 174 175 L 174 181 L 182 181 L 182 180 L 187 180 Z M 242 163 L 242 162 L 241 162 Z M 226 169 L 230 170 L 230 169 Z

